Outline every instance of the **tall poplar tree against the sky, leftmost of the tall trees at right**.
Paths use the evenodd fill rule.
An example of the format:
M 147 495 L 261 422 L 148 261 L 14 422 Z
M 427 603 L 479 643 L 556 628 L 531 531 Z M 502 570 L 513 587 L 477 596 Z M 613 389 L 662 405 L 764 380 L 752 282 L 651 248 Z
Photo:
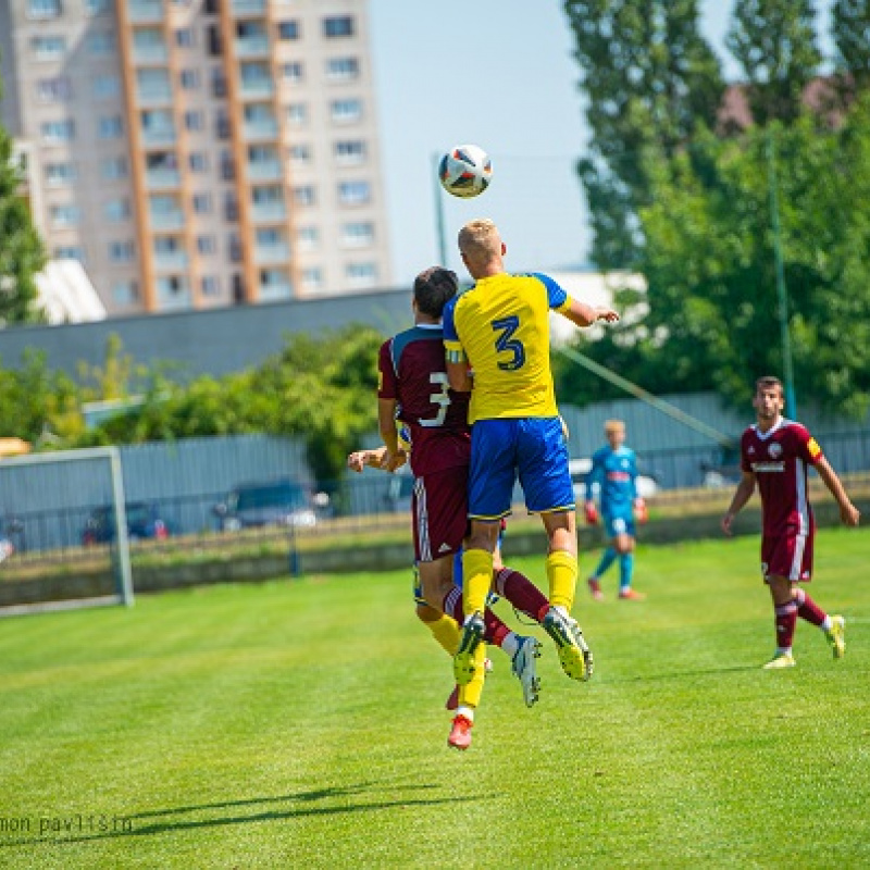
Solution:
M 671 153 L 697 120 L 712 124 L 724 84 L 698 30 L 697 0 L 566 0 L 593 133 L 577 172 L 594 231 L 592 259 L 632 268 L 649 199 L 643 152 Z

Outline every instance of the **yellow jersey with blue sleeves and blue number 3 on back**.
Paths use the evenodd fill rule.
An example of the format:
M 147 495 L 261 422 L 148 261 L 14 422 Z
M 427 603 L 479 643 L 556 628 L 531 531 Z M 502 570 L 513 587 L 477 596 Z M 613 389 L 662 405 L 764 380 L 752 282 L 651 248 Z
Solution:
M 538 273 L 482 278 L 444 310 L 450 362 L 474 373 L 469 423 L 519 417 L 557 417 L 550 371 L 549 311 L 571 297 Z

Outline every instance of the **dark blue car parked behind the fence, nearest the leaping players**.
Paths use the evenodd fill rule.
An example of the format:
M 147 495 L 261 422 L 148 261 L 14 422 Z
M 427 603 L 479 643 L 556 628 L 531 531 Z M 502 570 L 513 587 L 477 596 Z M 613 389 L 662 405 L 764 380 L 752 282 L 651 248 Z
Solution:
M 316 525 L 315 499 L 311 490 L 290 477 L 238 485 L 214 506 L 224 532 L 264 525 L 307 529 Z

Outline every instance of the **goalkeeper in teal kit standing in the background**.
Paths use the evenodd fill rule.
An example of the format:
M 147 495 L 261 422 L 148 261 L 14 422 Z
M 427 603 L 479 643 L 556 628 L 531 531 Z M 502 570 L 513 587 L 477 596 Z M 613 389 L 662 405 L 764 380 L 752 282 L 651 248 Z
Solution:
M 586 481 L 586 522 L 598 523 L 593 486 L 598 485 L 601 520 L 608 545 L 595 573 L 588 579 L 593 598 L 601 600 L 601 575 L 619 561 L 619 597 L 639 600 L 646 596 L 632 588 L 634 574 L 635 522 L 646 522 L 646 505 L 637 495 L 637 461 L 634 450 L 625 447 L 625 424 L 621 420 L 605 423 L 607 446 L 595 451 Z

